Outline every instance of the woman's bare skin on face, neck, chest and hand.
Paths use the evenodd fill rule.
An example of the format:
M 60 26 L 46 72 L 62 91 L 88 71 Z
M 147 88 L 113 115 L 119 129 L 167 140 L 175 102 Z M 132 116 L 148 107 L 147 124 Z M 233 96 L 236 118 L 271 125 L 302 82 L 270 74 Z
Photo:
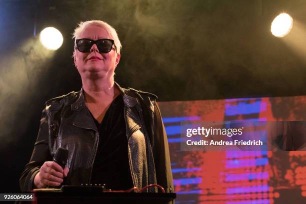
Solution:
M 87 25 L 77 38 L 113 39 L 107 31 L 97 25 Z M 114 86 L 114 70 L 119 63 L 120 53 L 114 46 L 108 53 L 100 53 L 96 44 L 90 51 L 83 53 L 74 50 L 74 64 L 81 76 L 85 103 L 94 118 L 101 123 L 112 100 L 120 94 Z M 47 185 L 58 186 L 67 176 L 69 168 L 64 169 L 54 161 L 46 161 L 34 177 L 34 185 L 43 188 Z

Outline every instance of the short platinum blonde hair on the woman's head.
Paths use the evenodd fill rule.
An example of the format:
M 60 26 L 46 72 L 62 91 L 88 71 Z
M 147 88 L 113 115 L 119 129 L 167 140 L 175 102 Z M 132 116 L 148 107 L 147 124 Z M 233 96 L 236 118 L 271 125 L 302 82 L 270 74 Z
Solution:
M 74 32 L 73 32 L 74 50 L 76 48 L 75 40 L 88 25 L 96 25 L 101 28 L 104 28 L 107 34 L 109 34 L 109 36 L 113 39 L 117 53 L 120 53 L 122 45 L 121 45 L 121 42 L 119 40 L 116 30 L 112 26 L 110 26 L 107 22 L 104 22 L 102 20 L 88 20 L 85 22 L 81 21 L 78 23 L 78 25 L 75 27 Z M 74 55 L 74 52 L 73 52 L 73 55 Z

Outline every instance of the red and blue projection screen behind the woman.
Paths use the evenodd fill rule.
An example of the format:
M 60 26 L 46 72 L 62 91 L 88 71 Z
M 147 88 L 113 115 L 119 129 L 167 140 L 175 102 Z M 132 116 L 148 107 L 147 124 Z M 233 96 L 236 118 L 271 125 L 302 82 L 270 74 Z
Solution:
M 302 126 L 294 135 L 302 145 L 306 96 L 158 104 L 168 136 L 175 203 L 306 203 L 304 150 L 183 151 L 180 147 L 181 124 L 186 121 L 295 121 Z

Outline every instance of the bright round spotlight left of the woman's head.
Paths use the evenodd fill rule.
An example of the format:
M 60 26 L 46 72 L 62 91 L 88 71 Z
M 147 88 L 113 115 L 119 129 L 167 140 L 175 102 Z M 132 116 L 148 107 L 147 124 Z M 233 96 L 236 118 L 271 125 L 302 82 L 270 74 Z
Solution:
M 51 50 L 58 49 L 62 44 L 62 35 L 60 31 L 54 27 L 46 27 L 39 34 L 41 44 Z

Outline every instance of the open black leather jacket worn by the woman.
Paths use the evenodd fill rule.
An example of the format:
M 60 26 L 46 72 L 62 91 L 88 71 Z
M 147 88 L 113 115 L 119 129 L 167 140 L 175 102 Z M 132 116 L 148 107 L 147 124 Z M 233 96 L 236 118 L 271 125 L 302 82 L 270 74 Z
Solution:
M 167 137 L 156 96 L 115 85 L 124 101 L 128 160 L 134 186 L 140 189 L 157 183 L 166 192 L 173 192 Z M 30 191 L 34 187 L 34 176 L 44 161 L 52 160 L 58 147 L 69 151 L 69 173 L 64 184 L 90 183 L 98 138 L 82 90 L 48 100 L 30 161 L 20 177 L 21 190 Z M 149 191 L 157 190 L 150 188 Z

